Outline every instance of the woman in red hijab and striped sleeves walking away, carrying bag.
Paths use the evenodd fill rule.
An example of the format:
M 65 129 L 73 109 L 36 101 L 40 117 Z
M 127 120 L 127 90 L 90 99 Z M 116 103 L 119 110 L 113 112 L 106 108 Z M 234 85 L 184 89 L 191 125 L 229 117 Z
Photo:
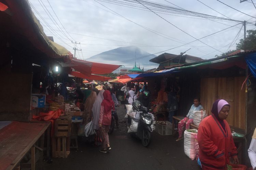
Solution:
M 111 110 L 114 111 L 114 102 L 112 100 L 111 94 L 109 90 L 104 91 L 103 93 L 103 101 L 100 105 L 100 118 L 99 118 L 99 127 L 102 128 L 102 132 L 105 140 L 102 142 L 102 149 L 100 152 L 107 153 L 111 150 L 109 145 L 109 128 L 111 124 Z

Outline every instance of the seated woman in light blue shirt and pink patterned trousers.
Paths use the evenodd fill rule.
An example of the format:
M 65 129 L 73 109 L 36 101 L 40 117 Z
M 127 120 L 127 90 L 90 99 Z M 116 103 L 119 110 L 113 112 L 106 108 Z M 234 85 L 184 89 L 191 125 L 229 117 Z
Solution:
M 189 129 L 190 124 L 193 123 L 194 112 L 202 111 L 202 110 L 203 110 L 203 106 L 200 104 L 200 98 L 199 97 L 194 98 L 194 104 L 192 104 L 192 106 L 190 107 L 187 116 L 184 119 L 182 119 L 181 121 L 179 121 L 179 123 L 178 123 L 179 138 L 176 141 L 183 139 L 182 133 L 183 133 L 185 126 L 186 126 L 186 130 L 187 130 L 187 129 Z

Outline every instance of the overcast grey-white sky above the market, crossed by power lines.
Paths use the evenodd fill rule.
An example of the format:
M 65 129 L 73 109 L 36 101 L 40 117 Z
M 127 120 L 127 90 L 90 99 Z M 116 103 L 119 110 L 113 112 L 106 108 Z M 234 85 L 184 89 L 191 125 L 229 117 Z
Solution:
M 58 21 L 57 17 L 55 16 L 50 4 L 58 16 L 59 20 L 61 21 L 62 27 L 60 22 Z M 40 20 L 40 22 L 44 27 L 44 32 L 47 36 L 53 36 L 54 41 L 63 47 L 70 50 L 72 53 L 73 44 L 69 39 L 76 40 L 81 43 L 77 47 L 81 51 L 78 51 L 76 54 L 77 58 L 85 59 L 89 58 L 93 55 L 99 54 L 104 51 L 112 50 L 118 47 L 124 46 L 138 46 L 139 48 L 147 51 L 148 53 L 152 53 L 155 55 L 160 55 L 161 51 L 168 50 L 182 44 L 189 43 L 195 38 L 199 39 L 201 37 L 207 36 L 209 34 L 215 33 L 217 31 L 223 30 L 230 26 L 234 26 L 238 24 L 236 21 L 222 21 L 222 20 L 215 20 L 214 22 L 209 19 L 205 19 L 202 17 L 191 17 L 191 16 L 174 16 L 157 13 L 151 11 L 142 11 L 134 8 L 128 8 L 116 4 L 110 4 L 103 1 L 109 0 L 102 0 L 102 1 L 94 1 L 94 0 L 30 0 L 32 5 L 35 7 L 37 12 L 43 17 L 43 19 L 47 22 L 47 24 L 53 29 L 57 30 L 56 32 L 59 34 L 58 36 L 62 39 L 58 39 L 56 37 L 56 33 L 53 34 L 48 30 L 49 27 L 43 21 L 43 19 L 38 15 L 37 12 L 32 8 L 35 16 Z M 116 1 L 116 0 L 112 0 Z M 123 0 L 119 0 L 122 2 L 127 2 Z M 210 6 L 214 10 L 218 11 L 219 13 L 225 15 L 221 15 L 214 10 L 210 9 L 209 7 L 203 5 L 198 0 L 168 0 L 173 4 L 170 4 L 167 0 L 151 0 L 156 3 L 161 3 L 169 6 L 174 6 L 173 4 L 189 11 L 199 12 L 203 14 L 218 16 L 226 18 L 225 16 L 239 21 L 248 21 L 253 22 L 256 21 L 256 9 L 253 6 L 252 1 L 242 2 L 240 3 L 239 0 L 220 0 L 227 5 L 236 8 L 237 10 L 246 13 L 245 15 L 241 12 L 238 12 L 217 0 L 200 0 L 204 4 Z M 99 3 L 98 3 L 99 2 Z M 256 1 L 255 1 L 256 2 Z M 47 8 L 47 10 L 51 13 L 53 18 L 59 24 L 61 29 L 57 28 L 56 24 L 54 24 L 54 20 L 52 21 L 42 5 Z M 101 4 L 102 5 L 101 5 Z M 104 6 L 103 6 L 104 5 Z M 139 4 L 141 5 L 141 4 Z M 141 5 L 142 6 L 142 5 Z M 147 5 L 146 5 L 147 6 Z M 176 7 L 177 7 L 176 6 Z M 108 8 L 106 8 L 108 7 Z M 112 11 L 111 11 L 111 10 Z M 154 11 L 154 10 L 153 10 Z M 115 13 L 114 13 L 115 12 Z M 154 11 L 156 12 L 156 11 Z M 126 17 L 124 19 L 117 14 Z M 169 13 L 170 14 L 170 13 Z M 190 17 L 190 18 L 188 18 Z M 131 22 L 132 21 L 132 22 Z M 162 34 L 162 36 L 152 33 L 137 24 L 149 28 L 151 30 L 157 31 L 157 34 Z M 169 23 L 170 22 L 170 23 Z M 221 22 L 221 23 L 218 23 Z M 173 25 L 180 28 L 181 30 L 175 28 Z M 246 30 L 256 28 L 253 24 L 247 24 Z M 236 35 L 239 33 L 242 24 L 238 24 L 236 27 L 229 28 L 225 31 L 217 33 L 215 35 L 206 37 L 201 39 L 201 41 L 207 45 L 203 44 L 200 41 L 195 41 L 192 44 L 188 44 L 179 48 L 175 48 L 172 50 L 165 51 L 167 53 L 172 54 L 180 54 L 191 48 L 186 54 L 201 57 L 203 59 L 213 58 L 216 54 L 221 54 L 221 52 L 226 52 L 229 50 L 230 43 L 233 40 L 236 40 Z M 47 29 L 48 28 L 48 29 Z M 68 38 L 61 33 L 61 31 L 65 32 Z M 69 35 L 67 32 L 69 32 Z M 80 34 L 80 35 L 79 35 Z M 165 34 L 165 35 L 163 35 Z M 60 36 L 61 35 L 61 36 Z M 243 38 L 244 30 L 241 29 L 239 34 L 239 38 L 237 39 L 236 43 L 239 42 L 239 39 Z M 65 38 L 65 39 L 64 39 Z M 167 39 L 169 38 L 169 39 Z M 175 39 L 174 39 L 175 38 Z M 172 40 L 171 40 L 172 39 Z M 173 41 L 175 40 L 175 41 Z M 65 43 L 64 43 L 64 42 Z M 178 42 L 180 43 L 178 43 Z M 236 43 L 230 47 L 231 50 L 236 48 Z M 142 47 L 144 46 L 144 47 Z M 146 46 L 146 47 L 145 47 Z M 162 46 L 162 47 L 159 47 Z M 215 49 L 214 49 L 215 48 Z M 219 51 L 217 51 L 217 50 Z M 221 51 L 221 52 L 220 52 Z M 158 53 L 161 52 L 161 53 Z M 125 60 L 125 58 L 120 59 Z M 145 60 L 147 60 L 145 58 Z M 99 61 L 102 62 L 102 61 Z

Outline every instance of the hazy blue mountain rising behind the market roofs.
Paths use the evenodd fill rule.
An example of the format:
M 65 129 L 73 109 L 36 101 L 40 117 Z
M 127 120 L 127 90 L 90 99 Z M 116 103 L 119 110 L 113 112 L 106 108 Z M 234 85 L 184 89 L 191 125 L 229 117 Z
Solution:
M 148 70 L 158 67 L 156 63 L 149 61 L 154 57 L 156 55 L 143 51 L 138 47 L 119 47 L 91 56 L 86 61 L 124 65 L 123 69 L 131 69 L 136 61 L 136 65 L 140 65 L 141 69 L 144 66 L 144 70 Z

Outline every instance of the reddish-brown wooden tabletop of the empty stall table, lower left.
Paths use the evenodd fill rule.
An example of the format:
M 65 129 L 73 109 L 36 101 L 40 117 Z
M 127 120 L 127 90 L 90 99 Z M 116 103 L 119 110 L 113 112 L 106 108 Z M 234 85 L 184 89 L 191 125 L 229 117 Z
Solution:
M 1 169 L 13 169 L 25 156 L 50 122 L 17 122 L 0 130 Z M 4 147 L 3 147 L 4 146 Z M 12 153 L 10 155 L 10 153 Z

